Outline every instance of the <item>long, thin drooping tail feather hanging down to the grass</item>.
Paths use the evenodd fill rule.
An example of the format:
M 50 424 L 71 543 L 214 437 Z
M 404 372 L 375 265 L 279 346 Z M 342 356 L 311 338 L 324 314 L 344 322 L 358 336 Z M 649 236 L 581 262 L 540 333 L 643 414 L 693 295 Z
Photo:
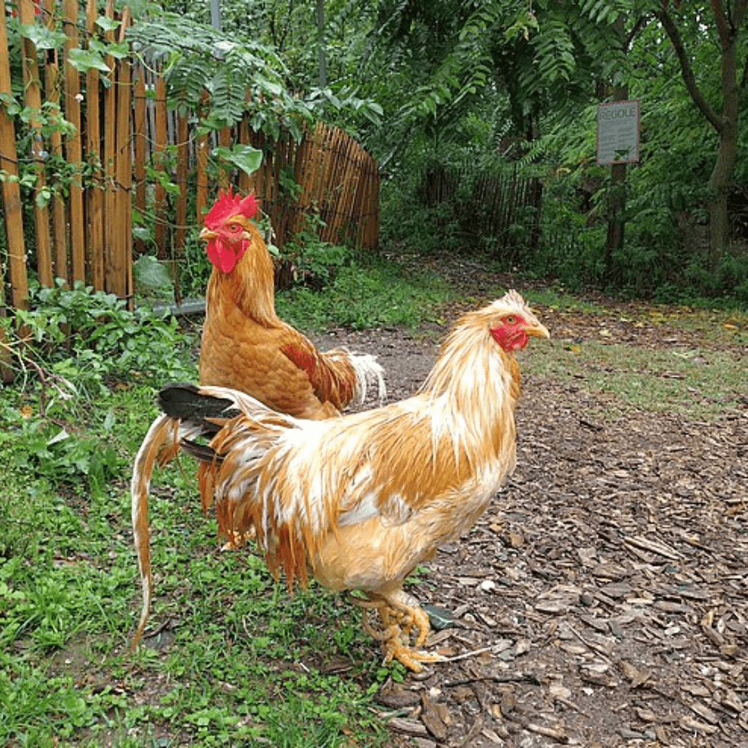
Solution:
M 160 464 L 168 462 L 171 456 L 179 449 L 177 443 L 177 427 L 179 423 L 168 415 L 161 415 L 150 426 L 145 435 L 143 444 L 135 456 L 135 465 L 132 469 L 132 482 L 130 483 L 130 496 L 132 500 L 132 534 L 135 539 L 135 548 L 138 552 L 138 569 L 140 571 L 141 586 L 143 589 L 143 607 L 141 609 L 140 622 L 132 637 L 130 651 L 138 645 L 143 634 L 148 613 L 150 612 L 150 599 L 152 590 L 152 578 L 150 568 L 150 533 L 148 530 L 148 490 L 150 479 L 153 476 L 153 466 L 156 461 Z M 168 444 L 169 438 L 174 441 L 174 447 Z M 168 449 L 164 449 L 168 447 Z

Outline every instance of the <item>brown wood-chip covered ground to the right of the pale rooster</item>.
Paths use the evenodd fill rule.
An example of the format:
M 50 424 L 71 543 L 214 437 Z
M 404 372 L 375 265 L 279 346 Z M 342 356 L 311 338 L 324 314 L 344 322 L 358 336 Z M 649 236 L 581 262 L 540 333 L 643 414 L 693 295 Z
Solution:
M 514 286 L 478 263 L 432 265 L 470 306 Z M 631 314 L 606 306 L 611 325 Z M 555 340 L 601 324 L 538 310 Z M 316 343 L 377 354 L 400 399 L 423 381 L 446 326 L 339 330 Z M 678 333 L 635 334 L 654 346 Z M 526 370 L 543 344 L 521 353 Z M 447 661 L 378 693 L 393 745 L 748 747 L 748 397 L 709 423 L 672 412 L 601 420 L 583 375 L 573 385 L 526 375 L 523 389 L 517 470 L 413 590 L 437 624 L 429 648 Z

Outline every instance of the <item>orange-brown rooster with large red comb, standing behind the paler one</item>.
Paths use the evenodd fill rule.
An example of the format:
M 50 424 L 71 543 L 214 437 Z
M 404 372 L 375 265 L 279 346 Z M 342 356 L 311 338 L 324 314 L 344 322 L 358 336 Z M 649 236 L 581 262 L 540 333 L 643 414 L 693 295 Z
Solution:
M 200 342 L 200 383 L 241 390 L 276 411 L 299 418 L 340 415 L 354 399 L 363 402 L 367 380 L 382 367 L 370 355 L 344 349 L 319 352 L 275 314 L 273 263 L 251 222 L 259 203 L 222 192 L 205 216 L 200 239 L 213 265 L 206 292 Z

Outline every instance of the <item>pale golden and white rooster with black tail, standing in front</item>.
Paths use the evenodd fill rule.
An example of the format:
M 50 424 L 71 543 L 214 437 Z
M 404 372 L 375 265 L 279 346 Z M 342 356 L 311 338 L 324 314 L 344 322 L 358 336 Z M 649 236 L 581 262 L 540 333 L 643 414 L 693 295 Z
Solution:
M 157 459 L 164 464 L 181 449 L 206 468 L 200 492 L 215 497 L 221 532 L 242 536 L 254 527 L 270 571 L 276 578 L 283 571 L 289 589 L 311 576 L 349 592 L 386 661 L 418 672 L 438 660 L 419 649 L 429 619 L 403 580 L 473 526 L 514 468 L 515 351 L 533 336 L 550 337 L 509 291 L 459 320 L 414 396 L 324 421 L 271 411 L 225 387 L 162 389 L 163 414 L 132 476 L 144 596 L 133 646 L 150 608 L 150 477 Z M 373 608 L 381 630 L 370 623 Z

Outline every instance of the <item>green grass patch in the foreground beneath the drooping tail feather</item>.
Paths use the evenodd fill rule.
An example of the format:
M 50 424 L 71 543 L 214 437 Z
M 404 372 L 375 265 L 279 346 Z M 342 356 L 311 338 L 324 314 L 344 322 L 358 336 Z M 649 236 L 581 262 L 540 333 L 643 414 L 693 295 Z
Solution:
M 255 554 L 221 553 L 189 459 L 157 475 L 150 506 L 151 625 L 167 625 L 126 654 L 139 606 L 127 479 L 153 388 L 92 402 L 78 423 L 90 438 L 96 408 L 127 414 L 102 435 L 117 464 L 98 494 L 85 462 L 38 473 L 19 409 L 3 411 L 0 428 L 21 435 L 0 444 L 0 743 L 385 744 L 369 705 L 392 671 L 358 611 L 319 586 L 289 596 Z M 325 673 L 341 662 L 344 675 Z

